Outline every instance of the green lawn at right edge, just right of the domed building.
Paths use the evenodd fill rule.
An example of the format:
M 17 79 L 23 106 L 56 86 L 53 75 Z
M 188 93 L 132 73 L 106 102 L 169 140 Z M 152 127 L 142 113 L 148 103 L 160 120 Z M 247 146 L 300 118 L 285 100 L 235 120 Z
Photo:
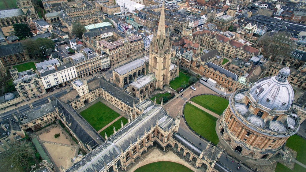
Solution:
M 286 146 L 297 151 L 297 160 L 306 165 L 306 140 L 298 135 L 293 135 L 287 140 Z

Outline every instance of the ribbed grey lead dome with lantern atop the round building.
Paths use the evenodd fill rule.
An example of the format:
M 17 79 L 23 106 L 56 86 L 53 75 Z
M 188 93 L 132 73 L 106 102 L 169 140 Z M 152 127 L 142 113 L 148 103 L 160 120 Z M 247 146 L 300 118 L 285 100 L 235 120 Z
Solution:
M 289 74 L 290 69 L 286 67 L 277 76 L 259 80 L 250 90 L 251 99 L 270 110 L 288 110 L 294 97 L 293 88 L 287 81 Z

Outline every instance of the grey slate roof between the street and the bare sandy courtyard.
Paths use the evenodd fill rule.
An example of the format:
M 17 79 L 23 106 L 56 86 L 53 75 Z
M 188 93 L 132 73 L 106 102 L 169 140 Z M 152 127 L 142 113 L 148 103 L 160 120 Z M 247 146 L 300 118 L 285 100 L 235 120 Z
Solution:
M 47 113 L 53 112 L 55 110 L 55 107 L 54 107 L 55 105 L 56 105 L 56 101 L 48 102 L 48 103 L 43 104 L 39 107 L 35 107 L 34 109 L 29 110 L 25 113 L 19 114 L 17 116 L 17 118 L 22 119 L 22 118 L 24 118 L 24 115 L 26 115 L 27 119 L 22 120 L 22 121 L 20 120 L 21 124 L 26 124 L 28 122 L 31 122 L 35 119 L 38 119 L 38 118 L 44 116 Z

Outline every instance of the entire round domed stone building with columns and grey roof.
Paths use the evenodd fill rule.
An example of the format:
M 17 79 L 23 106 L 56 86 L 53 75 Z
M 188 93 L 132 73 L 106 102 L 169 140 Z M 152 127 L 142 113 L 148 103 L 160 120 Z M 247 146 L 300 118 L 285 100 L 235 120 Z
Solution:
M 300 119 L 291 109 L 293 89 L 288 67 L 265 77 L 249 89 L 234 92 L 220 120 L 220 139 L 252 159 L 269 159 L 297 133 Z

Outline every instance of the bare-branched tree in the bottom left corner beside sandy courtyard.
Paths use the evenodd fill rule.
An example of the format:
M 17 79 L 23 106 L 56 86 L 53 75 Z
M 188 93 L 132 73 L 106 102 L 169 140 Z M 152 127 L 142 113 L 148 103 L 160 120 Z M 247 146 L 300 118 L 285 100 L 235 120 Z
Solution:
M 31 142 L 15 141 L 11 144 L 11 148 L 0 154 L 0 159 L 0 169 L 12 165 L 14 167 L 22 166 L 26 171 L 30 171 L 31 165 L 35 164 L 35 149 Z M 15 170 L 18 169 L 15 168 Z

